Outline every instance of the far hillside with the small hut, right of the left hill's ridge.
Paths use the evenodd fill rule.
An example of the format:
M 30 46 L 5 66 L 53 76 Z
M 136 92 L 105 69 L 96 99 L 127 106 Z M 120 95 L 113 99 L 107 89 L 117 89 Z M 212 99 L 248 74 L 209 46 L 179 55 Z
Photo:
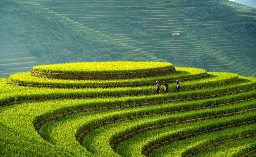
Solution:
M 135 50 L 124 53 L 130 59 L 256 75 L 252 44 L 256 10 L 240 5 L 236 10 L 228 5 L 238 4 L 232 1 L 23 2 L 23 5 L 49 8 L 102 36 L 133 47 Z M 241 9 L 251 11 L 238 13 Z M 247 15 L 249 18 L 244 18 Z M 180 37 L 172 39 L 171 33 L 176 32 Z

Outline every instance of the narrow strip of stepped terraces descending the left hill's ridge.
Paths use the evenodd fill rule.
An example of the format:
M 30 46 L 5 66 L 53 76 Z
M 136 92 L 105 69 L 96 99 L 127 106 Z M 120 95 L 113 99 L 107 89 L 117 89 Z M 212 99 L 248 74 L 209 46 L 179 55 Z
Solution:
M 124 36 L 126 34 L 121 34 L 121 37 L 120 37 L 119 34 L 118 35 L 115 35 L 115 34 L 113 34 L 113 35 L 106 35 L 106 34 L 109 34 L 109 33 L 102 32 L 102 30 L 97 28 L 97 27 L 90 27 L 90 25 L 87 25 L 86 23 L 82 23 L 81 20 L 78 20 L 77 18 L 73 18 L 72 17 L 72 19 L 70 19 L 71 18 L 70 16 L 67 16 L 69 18 L 66 18 L 65 16 L 69 12 L 68 11 L 67 12 L 65 12 L 65 11 L 62 12 L 63 11 L 62 9 L 65 9 L 66 7 L 68 7 L 70 5 L 70 2 L 67 2 L 67 1 L 64 1 L 64 2 L 57 1 L 56 4 L 60 4 L 60 3 L 63 4 L 64 3 L 64 5 L 62 5 L 59 9 L 57 9 L 57 11 L 56 10 L 53 11 L 53 10 L 49 10 L 49 8 L 50 9 L 53 9 L 53 8 L 55 9 L 55 5 L 47 6 L 49 8 L 46 8 L 44 5 L 45 4 L 55 4 L 54 1 L 33 1 L 33 0 L 17 0 L 17 1 L 21 2 L 22 5 L 24 5 L 26 7 L 39 7 L 39 8 L 41 8 L 44 11 L 44 13 L 42 14 L 42 16 L 44 18 L 49 18 L 51 20 L 64 19 L 72 27 L 74 27 L 74 29 L 79 30 L 79 31 L 84 31 L 84 32 L 88 33 L 89 35 L 91 35 L 92 37 L 93 36 L 100 37 L 101 38 L 100 41 L 107 41 L 107 42 L 111 42 L 111 43 L 114 43 L 114 44 L 117 44 L 117 45 L 121 45 L 123 47 L 133 48 L 132 45 L 128 44 L 130 38 L 128 38 L 127 36 Z M 72 4 L 73 3 L 75 3 L 77 5 L 71 5 L 71 7 L 70 7 L 71 9 L 74 9 L 74 8 L 81 9 L 81 7 L 79 7 L 80 4 L 85 5 L 85 4 L 89 4 L 91 2 L 90 1 L 73 1 Z M 97 6 L 97 5 L 95 5 L 95 6 Z M 76 11 L 76 10 L 74 10 L 74 11 Z M 78 13 L 78 15 L 75 15 L 75 17 L 81 17 L 80 15 L 82 15 L 82 14 Z M 88 19 L 89 18 L 97 17 L 97 16 L 94 16 L 94 15 L 98 15 L 98 17 L 100 17 L 99 16 L 100 14 L 92 14 L 92 15 L 89 15 L 89 17 L 88 16 L 87 17 L 88 17 Z M 114 15 L 115 15 L 115 13 L 114 13 Z M 109 16 L 111 16 L 111 15 L 109 15 Z M 85 19 L 86 19 L 86 17 L 85 17 Z M 127 38 L 124 38 L 124 37 L 127 37 Z M 121 42 L 124 39 L 127 40 L 127 41 Z M 134 54 L 134 52 L 136 52 L 136 54 Z M 147 54 L 144 51 L 141 51 L 140 49 L 135 49 L 135 50 L 133 50 L 131 52 L 128 52 L 126 54 L 127 54 L 126 55 L 127 57 L 131 57 L 134 60 L 138 60 L 138 61 L 140 61 L 140 60 L 142 60 L 142 61 L 160 61 L 161 60 L 161 59 L 157 59 L 155 56 Z

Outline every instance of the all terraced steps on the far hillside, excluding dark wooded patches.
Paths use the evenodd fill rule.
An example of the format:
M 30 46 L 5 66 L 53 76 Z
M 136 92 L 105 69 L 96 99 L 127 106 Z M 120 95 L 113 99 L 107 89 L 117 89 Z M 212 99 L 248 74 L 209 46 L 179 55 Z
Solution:
M 21 0 L 19 0 L 21 1 Z M 125 56 L 135 61 L 162 61 L 156 56 L 175 57 L 176 61 L 184 58 L 198 59 L 206 52 L 217 55 L 217 63 L 209 68 L 210 71 L 234 72 L 240 76 L 256 77 L 255 60 L 241 55 L 239 38 L 233 35 L 210 34 L 198 39 L 197 36 L 183 35 L 191 32 L 193 25 L 217 25 L 224 21 L 198 21 L 185 19 L 184 25 L 178 25 L 176 17 L 181 17 L 180 11 L 187 8 L 164 8 L 160 1 L 54 1 L 54 0 L 22 0 L 27 7 L 37 6 L 45 10 L 44 18 L 51 20 L 65 19 L 74 29 L 85 31 L 89 35 L 97 35 L 101 40 L 133 47 L 134 50 Z M 238 3 L 223 0 L 224 5 L 231 7 L 239 17 L 254 18 L 255 9 Z M 153 8 L 153 9 L 152 9 Z M 126 16 L 129 15 L 129 18 Z M 129 24 L 139 22 L 146 27 L 141 30 Z M 179 32 L 178 39 L 159 38 Z M 134 38 L 134 36 L 143 38 Z M 171 35 L 170 35 L 171 36 Z M 228 57 L 233 60 L 229 61 Z

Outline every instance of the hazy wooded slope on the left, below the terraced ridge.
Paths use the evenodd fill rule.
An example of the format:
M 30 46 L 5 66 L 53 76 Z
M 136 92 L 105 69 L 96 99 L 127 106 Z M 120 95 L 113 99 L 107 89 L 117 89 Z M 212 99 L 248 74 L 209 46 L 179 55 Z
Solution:
M 74 30 L 64 20 L 42 17 L 37 7 L 26 8 L 13 0 L 0 2 L 1 58 L 36 56 L 40 64 L 125 60 L 129 49 L 97 36 Z M 11 51 L 12 45 L 18 52 Z M 24 53 L 19 53 L 24 51 Z

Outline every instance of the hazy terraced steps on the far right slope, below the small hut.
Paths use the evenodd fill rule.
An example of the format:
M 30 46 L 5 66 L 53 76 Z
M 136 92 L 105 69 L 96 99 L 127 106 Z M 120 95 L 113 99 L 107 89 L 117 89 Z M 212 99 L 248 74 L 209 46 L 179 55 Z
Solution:
M 218 59 L 217 63 L 209 67 L 209 71 L 233 72 L 240 76 L 255 77 L 255 59 L 241 55 L 241 45 L 235 36 L 202 35 L 201 40 L 196 36 L 190 36 L 184 37 L 184 40 L 181 38 L 173 42 L 162 42 L 162 45 L 175 50 L 172 54 L 177 61 L 183 58 L 198 59 L 200 54 L 206 52 L 209 55 L 216 55 Z M 233 57 L 232 60 L 229 60 L 230 56 Z

